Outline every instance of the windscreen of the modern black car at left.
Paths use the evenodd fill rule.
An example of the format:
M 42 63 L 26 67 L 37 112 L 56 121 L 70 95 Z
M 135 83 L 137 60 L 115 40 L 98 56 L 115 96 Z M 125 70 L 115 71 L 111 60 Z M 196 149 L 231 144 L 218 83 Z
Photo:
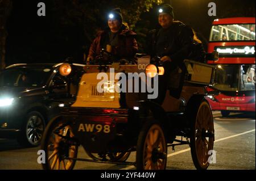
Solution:
M 0 74 L 0 86 L 39 87 L 46 83 L 50 74 L 51 69 L 47 68 L 7 69 Z

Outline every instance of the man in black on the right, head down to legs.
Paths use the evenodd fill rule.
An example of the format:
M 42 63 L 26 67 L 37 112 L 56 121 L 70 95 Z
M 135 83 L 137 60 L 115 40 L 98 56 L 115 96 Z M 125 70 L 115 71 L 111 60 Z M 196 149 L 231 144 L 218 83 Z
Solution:
M 168 4 L 160 7 L 158 22 L 160 27 L 148 35 L 147 51 L 151 58 L 159 56 L 164 62 L 165 72 L 170 72 L 165 75 L 168 76 L 167 89 L 172 96 L 179 98 L 185 75 L 183 60 L 191 53 L 193 32 L 184 23 L 174 21 L 173 8 Z

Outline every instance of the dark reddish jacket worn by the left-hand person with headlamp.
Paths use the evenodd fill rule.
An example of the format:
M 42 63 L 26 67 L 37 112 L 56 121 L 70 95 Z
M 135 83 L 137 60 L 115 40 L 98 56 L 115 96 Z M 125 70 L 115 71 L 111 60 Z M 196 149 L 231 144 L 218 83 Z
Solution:
M 90 45 L 89 57 L 93 57 L 94 59 L 100 54 L 101 49 L 106 49 L 104 41 L 108 39 L 109 32 L 110 29 L 107 28 L 106 30 L 97 33 L 96 39 L 94 39 L 92 45 Z M 129 30 L 124 25 L 122 25 L 118 33 L 118 45 L 113 47 L 112 53 L 119 59 L 134 58 L 138 51 L 138 44 L 135 40 L 136 33 Z

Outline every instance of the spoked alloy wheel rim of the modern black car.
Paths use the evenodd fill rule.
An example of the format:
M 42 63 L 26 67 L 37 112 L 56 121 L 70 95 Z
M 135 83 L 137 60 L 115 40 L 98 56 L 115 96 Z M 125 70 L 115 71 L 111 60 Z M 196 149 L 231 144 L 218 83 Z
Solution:
M 32 115 L 28 118 L 26 135 L 27 140 L 32 145 L 37 145 L 41 141 L 44 131 L 44 123 L 40 116 Z

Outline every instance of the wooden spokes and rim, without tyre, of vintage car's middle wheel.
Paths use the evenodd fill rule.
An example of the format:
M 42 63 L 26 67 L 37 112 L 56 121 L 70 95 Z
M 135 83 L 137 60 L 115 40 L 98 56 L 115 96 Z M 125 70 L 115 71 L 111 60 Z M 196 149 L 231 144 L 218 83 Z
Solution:
M 143 146 L 143 164 L 145 170 L 163 170 L 166 167 L 167 146 L 164 133 L 154 124 L 147 132 Z

